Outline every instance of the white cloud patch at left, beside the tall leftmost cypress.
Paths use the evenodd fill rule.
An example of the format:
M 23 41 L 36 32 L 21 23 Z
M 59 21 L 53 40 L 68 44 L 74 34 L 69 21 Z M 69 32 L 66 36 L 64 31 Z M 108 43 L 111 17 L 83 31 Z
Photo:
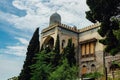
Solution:
M 15 37 L 16 40 L 18 40 L 17 43 L 6 46 L 6 48 L 1 48 L 0 53 L 4 54 L 12 54 L 16 56 L 26 56 L 27 47 L 29 44 L 29 41 L 23 37 Z

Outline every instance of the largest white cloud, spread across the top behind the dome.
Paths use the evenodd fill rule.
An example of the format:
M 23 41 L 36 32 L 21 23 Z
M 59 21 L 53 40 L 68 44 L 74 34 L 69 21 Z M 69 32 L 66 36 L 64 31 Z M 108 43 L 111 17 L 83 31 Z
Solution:
M 85 11 L 89 10 L 86 0 L 15 0 L 13 5 L 27 12 L 23 17 L 6 17 L 14 27 L 21 30 L 33 31 L 36 27 L 47 27 L 50 15 L 56 11 L 67 25 L 81 28 L 91 24 L 85 19 Z

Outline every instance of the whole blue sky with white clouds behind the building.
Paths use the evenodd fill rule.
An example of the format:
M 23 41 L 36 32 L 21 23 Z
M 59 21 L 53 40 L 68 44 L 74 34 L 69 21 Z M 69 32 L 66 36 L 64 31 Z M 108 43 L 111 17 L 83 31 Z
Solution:
M 19 75 L 35 29 L 48 27 L 53 13 L 63 24 L 83 28 L 92 24 L 88 10 L 86 0 L 0 0 L 0 80 Z

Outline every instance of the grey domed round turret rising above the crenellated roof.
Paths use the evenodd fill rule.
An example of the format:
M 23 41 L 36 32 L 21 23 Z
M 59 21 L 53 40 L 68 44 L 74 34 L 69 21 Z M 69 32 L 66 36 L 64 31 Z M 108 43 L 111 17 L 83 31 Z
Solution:
M 55 12 L 50 16 L 50 23 L 49 25 L 55 24 L 55 23 L 61 23 L 61 16 Z

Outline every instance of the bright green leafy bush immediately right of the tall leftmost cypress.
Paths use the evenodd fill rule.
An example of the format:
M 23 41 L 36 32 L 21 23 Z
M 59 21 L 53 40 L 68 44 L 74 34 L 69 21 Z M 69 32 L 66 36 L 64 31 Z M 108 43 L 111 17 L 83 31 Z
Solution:
M 52 65 L 49 63 L 50 58 L 50 54 L 46 53 L 46 50 L 41 51 L 37 55 L 37 62 L 30 66 L 32 69 L 31 80 L 48 80 L 48 76 L 52 71 Z

